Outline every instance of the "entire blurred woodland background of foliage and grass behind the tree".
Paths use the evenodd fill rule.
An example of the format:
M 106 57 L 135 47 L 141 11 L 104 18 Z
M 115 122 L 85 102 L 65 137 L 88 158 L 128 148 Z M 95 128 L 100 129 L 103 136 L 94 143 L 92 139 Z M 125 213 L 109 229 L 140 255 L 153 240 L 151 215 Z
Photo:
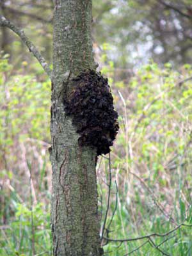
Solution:
M 52 0 L 0 2 L 49 63 L 53 8 Z M 111 176 L 106 235 L 168 233 L 108 243 L 105 255 L 191 256 L 192 1 L 93 0 L 92 27 L 120 123 L 110 170 L 108 155 L 97 164 L 103 219 Z M 52 255 L 51 82 L 7 28 L 0 51 L 0 255 Z

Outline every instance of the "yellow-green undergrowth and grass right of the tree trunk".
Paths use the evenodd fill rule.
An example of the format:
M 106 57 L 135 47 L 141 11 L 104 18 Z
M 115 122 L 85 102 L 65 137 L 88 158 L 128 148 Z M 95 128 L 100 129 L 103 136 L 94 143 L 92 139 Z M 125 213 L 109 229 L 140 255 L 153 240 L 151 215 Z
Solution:
M 190 65 L 176 71 L 170 63 L 160 68 L 151 61 L 128 83 L 112 84 L 120 132 L 111 154 L 113 184 L 115 180 L 118 183 L 118 210 L 110 228 L 111 238 L 166 234 L 179 223 L 191 225 L 191 72 Z M 108 160 L 102 161 L 108 173 Z M 114 187 L 108 223 L 115 190 Z M 102 196 L 104 193 L 108 189 L 100 191 Z M 106 207 L 102 208 L 104 212 Z M 162 243 L 159 249 L 166 255 L 175 256 L 191 255 L 191 239 L 191 227 L 152 238 L 156 245 Z M 108 243 L 104 248 L 106 255 L 128 255 L 146 241 L 121 246 Z M 163 255 L 148 242 L 131 254 Z

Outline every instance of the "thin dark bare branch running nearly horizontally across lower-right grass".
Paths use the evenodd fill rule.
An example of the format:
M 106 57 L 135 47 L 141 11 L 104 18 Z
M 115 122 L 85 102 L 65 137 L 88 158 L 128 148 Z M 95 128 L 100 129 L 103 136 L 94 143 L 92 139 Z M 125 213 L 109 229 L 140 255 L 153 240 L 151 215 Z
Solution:
M 106 239 L 109 242 L 131 242 L 131 241 L 137 241 L 137 240 L 142 240 L 142 239 L 150 239 L 151 237 L 157 236 L 157 237 L 165 237 L 168 236 L 170 234 L 172 234 L 173 232 L 175 232 L 176 230 L 178 230 L 180 227 L 182 226 L 187 226 L 187 227 L 192 227 L 192 225 L 186 225 L 184 223 L 180 223 L 180 225 L 178 225 L 177 227 L 173 228 L 172 230 L 164 233 L 164 234 L 158 234 L 158 233 L 152 233 L 150 235 L 147 236 L 140 236 L 140 237 L 135 237 L 135 238 L 127 238 L 127 239 L 111 239 L 108 237 L 103 237 L 104 239 Z

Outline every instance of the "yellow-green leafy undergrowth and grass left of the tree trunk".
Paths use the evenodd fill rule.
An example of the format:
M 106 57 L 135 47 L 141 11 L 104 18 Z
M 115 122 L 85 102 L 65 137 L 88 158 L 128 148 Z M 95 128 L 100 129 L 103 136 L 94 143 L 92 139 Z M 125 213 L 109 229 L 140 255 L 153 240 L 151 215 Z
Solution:
M 22 67 L 27 65 L 22 63 Z M 44 145 L 50 140 L 51 83 L 15 73 L 6 55 L 0 60 L 0 81 L 0 255 L 32 255 L 32 244 L 36 255 L 51 255 L 50 207 L 45 203 L 50 193 L 44 190 L 50 169 Z M 33 209 L 29 172 L 44 198 Z M 35 179 L 38 176 L 40 179 Z M 24 204 L 25 200 L 28 203 Z

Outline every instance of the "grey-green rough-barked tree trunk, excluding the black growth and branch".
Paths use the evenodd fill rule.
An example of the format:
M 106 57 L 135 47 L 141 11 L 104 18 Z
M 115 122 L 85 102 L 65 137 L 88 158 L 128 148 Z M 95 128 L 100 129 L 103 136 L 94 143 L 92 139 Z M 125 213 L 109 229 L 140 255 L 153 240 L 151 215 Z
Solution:
M 63 105 L 72 90 L 72 78 L 83 70 L 95 70 L 91 24 L 91 0 L 56 0 L 50 154 L 51 225 L 57 256 L 102 254 L 95 174 L 97 148 L 79 146 L 79 134 Z

